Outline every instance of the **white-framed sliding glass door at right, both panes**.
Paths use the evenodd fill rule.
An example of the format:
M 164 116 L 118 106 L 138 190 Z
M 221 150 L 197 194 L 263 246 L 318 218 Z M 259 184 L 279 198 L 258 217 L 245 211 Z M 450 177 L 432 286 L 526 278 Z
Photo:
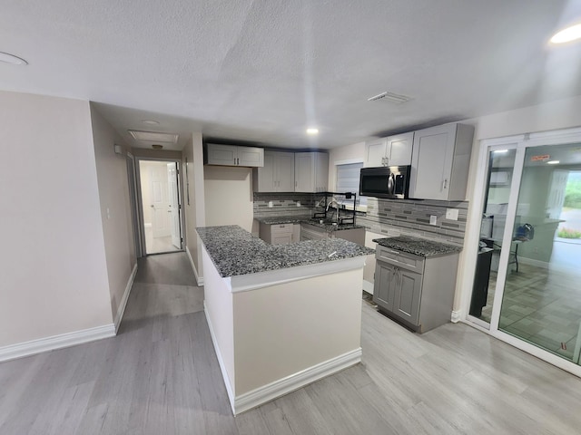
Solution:
M 492 140 L 480 160 L 467 320 L 556 365 L 578 364 L 581 130 Z

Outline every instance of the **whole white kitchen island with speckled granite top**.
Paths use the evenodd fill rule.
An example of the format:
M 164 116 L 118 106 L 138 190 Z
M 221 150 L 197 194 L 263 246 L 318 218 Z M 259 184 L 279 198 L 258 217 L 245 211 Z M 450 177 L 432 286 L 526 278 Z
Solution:
M 340 238 L 269 245 L 238 226 L 197 231 L 204 311 L 234 414 L 360 361 L 372 249 Z

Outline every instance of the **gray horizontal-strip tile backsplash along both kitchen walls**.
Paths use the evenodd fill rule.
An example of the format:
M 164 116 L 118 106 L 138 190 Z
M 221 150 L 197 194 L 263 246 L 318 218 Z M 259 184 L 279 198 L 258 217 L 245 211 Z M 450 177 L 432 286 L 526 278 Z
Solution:
M 254 193 L 254 216 L 307 216 L 320 200 L 310 193 Z M 269 208 L 272 201 L 272 208 Z M 297 201 L 300 207 L 297 207 Z M 458 220 L 446 218 L 448 208 L 458 210 Z M 429 225 L 430 216 L 436 225 Z M 455 245 L 464 244 L 468 201 L 367 198 L 367 213 L 358 213 L 358 225 L 368 231 L 394 237 L 426 237 Z

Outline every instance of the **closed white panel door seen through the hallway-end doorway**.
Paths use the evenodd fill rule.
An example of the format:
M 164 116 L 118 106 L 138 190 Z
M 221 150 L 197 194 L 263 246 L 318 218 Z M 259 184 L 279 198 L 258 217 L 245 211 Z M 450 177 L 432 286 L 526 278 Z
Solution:
M 167 167 L 163 164 L 150 168 L 150 192 L 153 237 L 171 235 L 170 199 L 168 195 Z

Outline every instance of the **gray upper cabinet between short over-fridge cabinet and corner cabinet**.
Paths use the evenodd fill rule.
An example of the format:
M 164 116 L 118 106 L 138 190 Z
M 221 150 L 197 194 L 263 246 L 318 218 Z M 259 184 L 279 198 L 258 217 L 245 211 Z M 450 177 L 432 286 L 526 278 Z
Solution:
M 294 192 L 294 152 L 264 151 L 264 166 L 254 169 L 256 192 Z

